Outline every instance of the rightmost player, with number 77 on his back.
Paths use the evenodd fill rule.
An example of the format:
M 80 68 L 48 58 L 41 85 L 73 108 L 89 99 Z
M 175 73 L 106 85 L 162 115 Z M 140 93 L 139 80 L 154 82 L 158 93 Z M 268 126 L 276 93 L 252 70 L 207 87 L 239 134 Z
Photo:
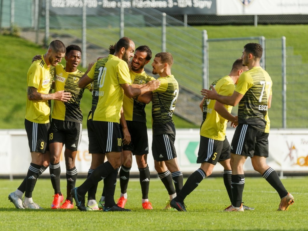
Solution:
M 245 184 L 243 164 L 251 157 L 253 168 L 278 192 L 281 198 L 278 210 L 285 211 L 294 203 L 294 197 L 283 186 L 277 172 L 266 164 L 269 156 L 268 135 L 270 120 L 267 110 L 272 100 L 272 80 L 260 66 L 263 53 L 258 43 L 247 43 L 243 50 L 243 65 L 249 68 L 239 78 L 231 96 L 217 94 L 203 89 L 206 99 L 216 99 L 220 103 L 238 107 L 238 126 L 231 142 L 231 184 L 232 204 L 225 211 L 244 211 L 241 205 Z M 264 199 L 266 200 L 266 198 Z

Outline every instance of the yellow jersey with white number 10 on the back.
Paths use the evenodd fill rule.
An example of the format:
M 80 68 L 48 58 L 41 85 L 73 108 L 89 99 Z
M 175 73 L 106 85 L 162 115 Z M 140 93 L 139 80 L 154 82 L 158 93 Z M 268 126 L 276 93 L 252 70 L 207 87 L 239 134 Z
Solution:
M 120 123 L 124 95 L 121 84 L 132 84 L 127 63 L 114 55 L 108 55 L 108 61 L 97 82 L 99 99 L 92 120 Z

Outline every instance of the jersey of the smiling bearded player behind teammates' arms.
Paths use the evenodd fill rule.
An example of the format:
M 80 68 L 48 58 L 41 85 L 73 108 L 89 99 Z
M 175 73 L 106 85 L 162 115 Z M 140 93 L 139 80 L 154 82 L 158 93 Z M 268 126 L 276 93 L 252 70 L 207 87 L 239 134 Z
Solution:
M 154 77 L 148 75 L 143 71 L 142 73 L 138 74 L 133 71 L 130 71 L 130 76 L 133 84 L 145 84 L 151 80 L 155 80 Z M 137 99 L 128 98 L 125 94 L 123 97 L 123 110 L 124 110 L 124 117 L 125 120 L 129 121 L 136 121 L 146 123 L 146 116 L 145 116 L 145 103 L 138 101 Z

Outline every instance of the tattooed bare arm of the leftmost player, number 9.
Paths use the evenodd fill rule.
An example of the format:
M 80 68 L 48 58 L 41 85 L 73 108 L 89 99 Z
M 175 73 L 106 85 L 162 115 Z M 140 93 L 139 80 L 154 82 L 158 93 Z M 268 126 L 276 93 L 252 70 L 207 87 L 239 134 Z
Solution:
M 63 102 L 67 102 L 71 99 L 70 92 L 57 91 L 52 94 L 42 94 L 38 92 L 38 89 L 35 87 L 28 87 L 28 99 L 36 100 L 36 101 L 45 101 L 50 99 L 60 100 Z

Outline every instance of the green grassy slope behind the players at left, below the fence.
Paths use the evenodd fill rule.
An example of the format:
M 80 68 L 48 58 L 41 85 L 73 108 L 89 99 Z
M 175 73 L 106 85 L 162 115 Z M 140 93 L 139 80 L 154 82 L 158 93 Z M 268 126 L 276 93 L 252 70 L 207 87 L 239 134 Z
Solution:
M 0 56 L 1 82 L 0 91 L 0 129 L 24 128 L 24 118 L 26 111 L 26 75 L 31 65 L 32 57 L 36 54 L 44 54 L 46 49 L 34 45 L 24 39 L 1 36 L 0 44 L 5 44 Z M 65 60 L 62 60 L 65 65 Z M 82 68 L 80 68 L 82 70 Z M 83 70 L 85 71 L 85 70 Z M 86 128 L 86 117 L 91 107 L 91 93 L 85 91 L 81 109 L 84 120 L 83 128 Z M 147 106 L 148 128 L 151 128 L 151 106 Z M 177 128 L 196 127 L 187 121 L 174 116 Z

